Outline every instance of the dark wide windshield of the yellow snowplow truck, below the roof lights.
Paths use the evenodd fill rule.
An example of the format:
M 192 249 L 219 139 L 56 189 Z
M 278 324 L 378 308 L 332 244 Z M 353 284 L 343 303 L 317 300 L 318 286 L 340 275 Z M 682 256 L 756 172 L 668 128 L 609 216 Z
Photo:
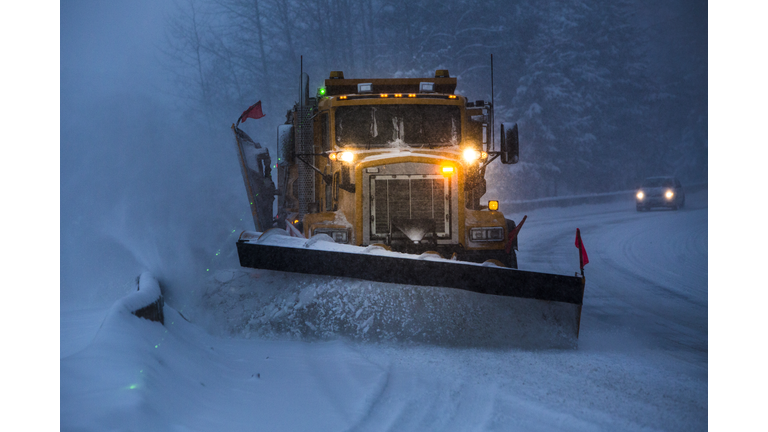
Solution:
M 342 147 L 436 147 L 461 140 L 461 111 L 448 105 L 358 105 L 336 109 Z

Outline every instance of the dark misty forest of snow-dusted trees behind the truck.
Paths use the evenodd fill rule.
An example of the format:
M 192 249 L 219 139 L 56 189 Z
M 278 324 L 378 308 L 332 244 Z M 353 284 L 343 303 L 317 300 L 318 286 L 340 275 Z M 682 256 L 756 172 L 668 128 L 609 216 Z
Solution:
M 492 165 L 489 186 L 507 185 L 491 188 L 501 198 L 622 190 L 660 174 L 705 181 L 706 50 L 659 61 L 660 30 L 638 15 L 641 4 L 184 0 L 168 17 L 165 51 L 180 95 L 208 122 L 227 127 L 262 100 L 273 113 L 256 134 L 266 142 L 298 99 L 300 59 L 313 90 L 332 70 L 448 69 L 459 93 L 490 100 L 493 54 L 497 123 L 517 122 L 521 140 L 519 164 Z

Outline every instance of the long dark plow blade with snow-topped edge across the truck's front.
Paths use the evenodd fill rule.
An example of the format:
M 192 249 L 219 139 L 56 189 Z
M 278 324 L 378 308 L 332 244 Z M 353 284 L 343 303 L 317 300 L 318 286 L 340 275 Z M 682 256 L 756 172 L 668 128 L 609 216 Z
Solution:
M 265 238 L 273 231 L 280 233 L 271 239 Z M 241 234 L 237 242 L 240 265 L 559 302 L 568 311 L 562 319 L 571 321 L 566 327 L 578 337 L 584 298 L 581 277 L 390 252 L 377 246 L 366 248 L 314 241 L 315 238 L 306 240 L 284 233 L 284 230 L 272 229 L 265 234 L 247 231 Z

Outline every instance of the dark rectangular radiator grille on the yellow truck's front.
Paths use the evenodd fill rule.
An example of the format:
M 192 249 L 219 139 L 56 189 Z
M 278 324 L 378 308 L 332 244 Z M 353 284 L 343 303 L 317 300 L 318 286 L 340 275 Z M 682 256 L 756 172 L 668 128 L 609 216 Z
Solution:
M 384 177 L 384 178 L 382 178 Z M 393 231 L 392 219 L 431 219 L 439 237 L 450 235 L 450 183 L 433 175 L 371 176 L 371 236 Z

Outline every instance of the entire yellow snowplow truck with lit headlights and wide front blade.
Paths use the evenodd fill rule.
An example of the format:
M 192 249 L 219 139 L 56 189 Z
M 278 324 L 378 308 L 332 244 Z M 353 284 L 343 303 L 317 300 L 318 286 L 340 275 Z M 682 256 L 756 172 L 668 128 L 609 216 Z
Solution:
M 259 231 L 241 235 L 241 265 L 562 302 L 578 334 L 583 278 L 517 270 L 520 227 L 483 200 L 487 166 L 518 161 L 517 125 L 501 124 L 495 149 L 492 103 L 455 94 L 456 84 L 447 70 L 393 79 L 334 71 L 315 97 L 302 84 L 278 127 L 277 190 L 263 162 L 253 168 L 265 149 L 233 125 Z

